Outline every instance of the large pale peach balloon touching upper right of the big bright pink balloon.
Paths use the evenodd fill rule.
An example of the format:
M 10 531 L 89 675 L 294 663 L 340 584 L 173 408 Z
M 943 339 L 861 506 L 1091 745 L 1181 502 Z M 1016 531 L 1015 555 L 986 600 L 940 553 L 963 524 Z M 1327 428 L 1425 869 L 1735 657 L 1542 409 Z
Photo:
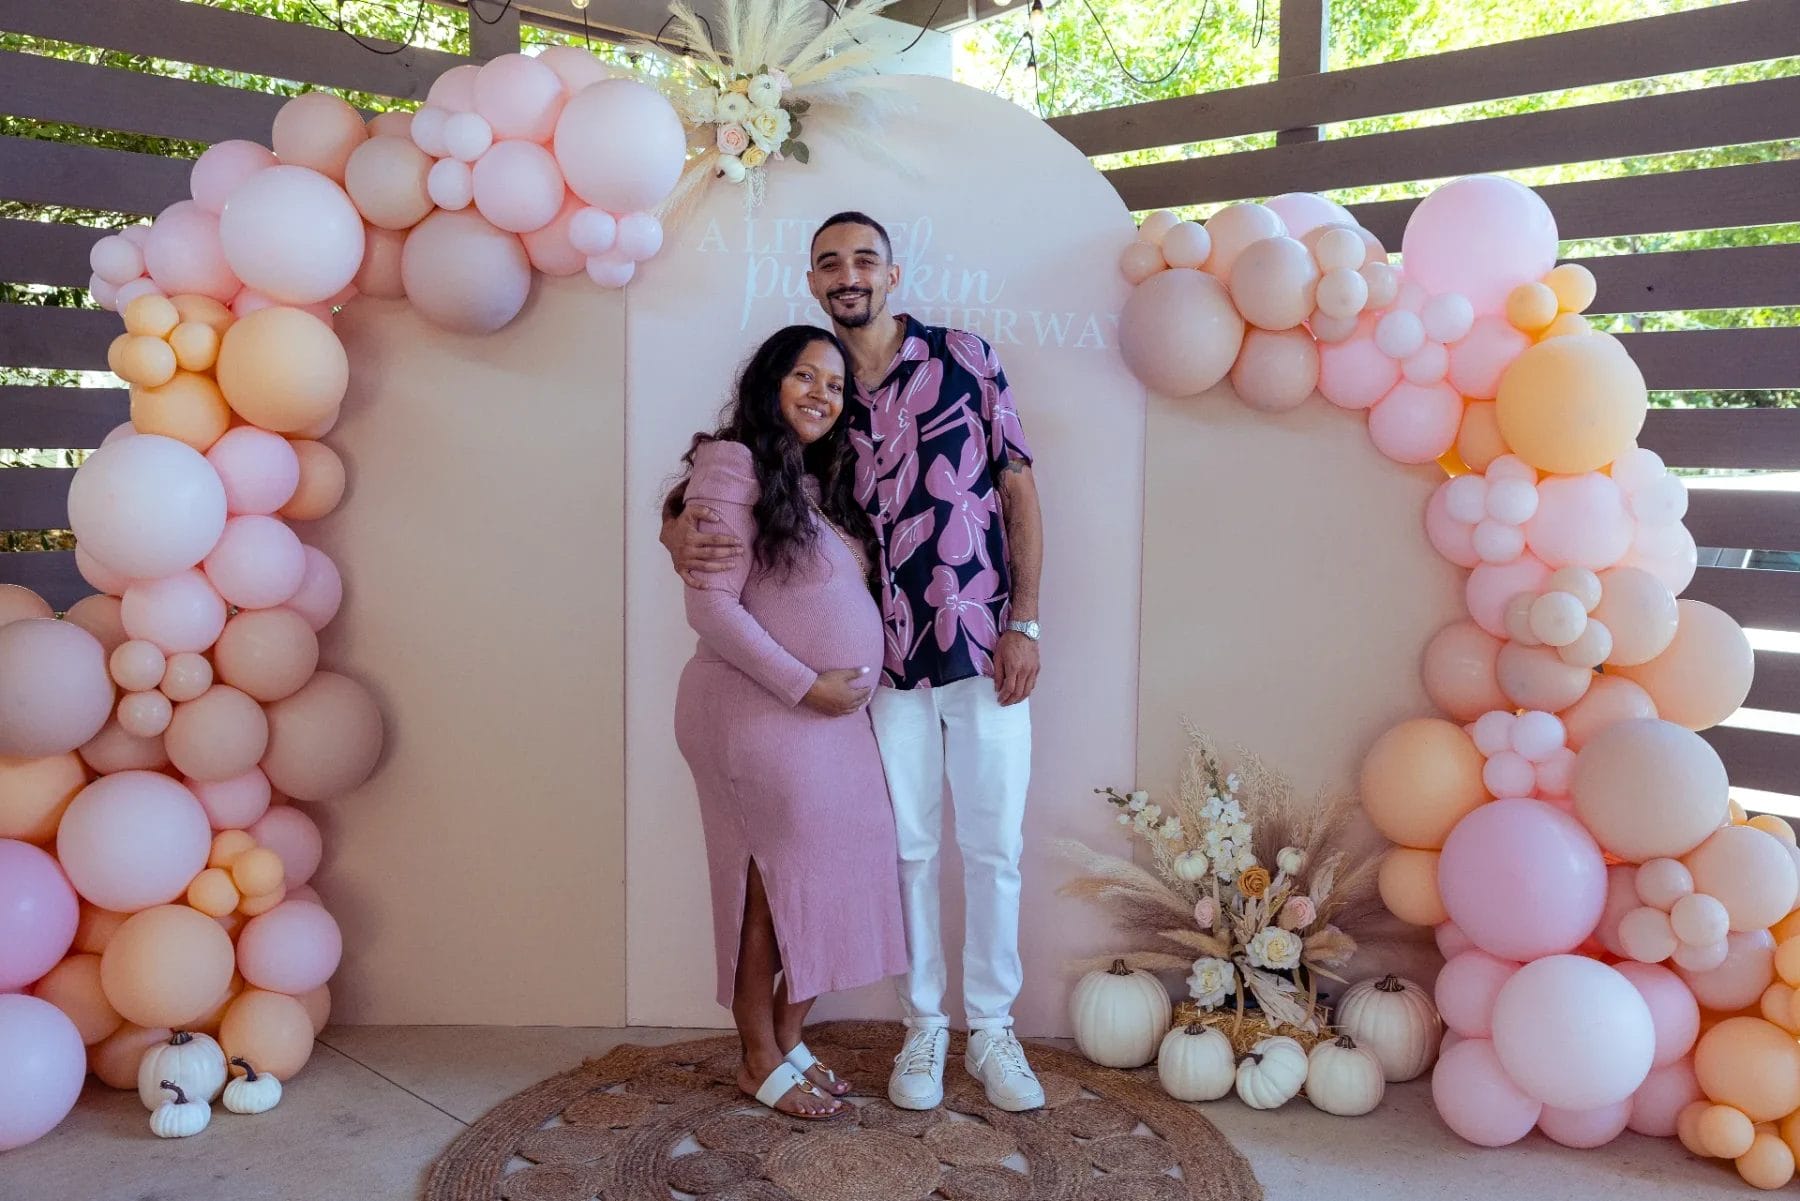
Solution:
M 1575 760 L 1575 814 L 1600 846 L 1633 862 L 1676 859 L 1724 823 L 1719 753 L 1679 726 L 1609 726 Z

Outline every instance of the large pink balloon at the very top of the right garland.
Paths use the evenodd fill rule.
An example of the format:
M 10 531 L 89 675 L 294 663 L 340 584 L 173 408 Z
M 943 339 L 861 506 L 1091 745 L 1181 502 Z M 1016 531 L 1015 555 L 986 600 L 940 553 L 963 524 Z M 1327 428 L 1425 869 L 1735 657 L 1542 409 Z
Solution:
M 1427 293 L 1460 292 L 1476 313 L 1499 313 L 1514 288 L 1555 266 L 1557 221 L 1525 184 L 1494 175 L 1453 180 L 1413 209 L 1400 261 Z

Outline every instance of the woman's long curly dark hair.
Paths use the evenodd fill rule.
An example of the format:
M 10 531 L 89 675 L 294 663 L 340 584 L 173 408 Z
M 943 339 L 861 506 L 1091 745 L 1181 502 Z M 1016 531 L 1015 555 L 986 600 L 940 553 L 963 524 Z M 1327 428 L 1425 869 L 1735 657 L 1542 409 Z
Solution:
M 794 371 L 801 353 L 814 342 L 826 342 L 844 360 L 844 407 L 830 432 L 803 447 L 781 416 L 781 382 Z M 819 508 L 844 533 L 862 544 L 868 562 L 877 562 L 875 524 L 857 502 L 857 457 L 850 445 L 850 405 L 855 382 L 850 351 L 828 330 L 787 326 L 770 335 L 738 375 L 736 398 L 720 414 L 711 434 L 695 434 L 682 463 L 693 470 L 693 456 L 707 441 L 738 441 L 751 448 L 761 495 L 756 501 L 756 564 L 765 571 L 792 571 L 819 538 L 819 526 L 806 504 L 803 479 L 819 479 Z M 679 502 L 686 481 L 670 495 Z

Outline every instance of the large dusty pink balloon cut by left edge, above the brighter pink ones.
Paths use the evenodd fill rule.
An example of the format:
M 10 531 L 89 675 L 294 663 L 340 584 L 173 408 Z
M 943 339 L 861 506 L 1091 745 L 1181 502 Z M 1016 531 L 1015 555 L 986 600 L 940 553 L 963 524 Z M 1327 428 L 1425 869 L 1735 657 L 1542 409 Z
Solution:
M 106 726 L 106 648 L 74 621 L 0 625 L 0 754 L 67 754 Z

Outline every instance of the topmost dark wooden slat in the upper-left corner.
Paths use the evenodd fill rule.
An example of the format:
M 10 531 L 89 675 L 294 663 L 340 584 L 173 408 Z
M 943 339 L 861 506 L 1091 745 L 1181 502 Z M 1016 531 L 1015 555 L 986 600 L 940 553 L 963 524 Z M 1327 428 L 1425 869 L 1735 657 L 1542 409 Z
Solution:
M 335 29 L 184 0 L 0 0 L 0 29 L 405 99 L 425 99 L 432 79 L 470 61 L 421 49 L 371 54 Z M 362 41 L 394 49 L 380 38 Z

